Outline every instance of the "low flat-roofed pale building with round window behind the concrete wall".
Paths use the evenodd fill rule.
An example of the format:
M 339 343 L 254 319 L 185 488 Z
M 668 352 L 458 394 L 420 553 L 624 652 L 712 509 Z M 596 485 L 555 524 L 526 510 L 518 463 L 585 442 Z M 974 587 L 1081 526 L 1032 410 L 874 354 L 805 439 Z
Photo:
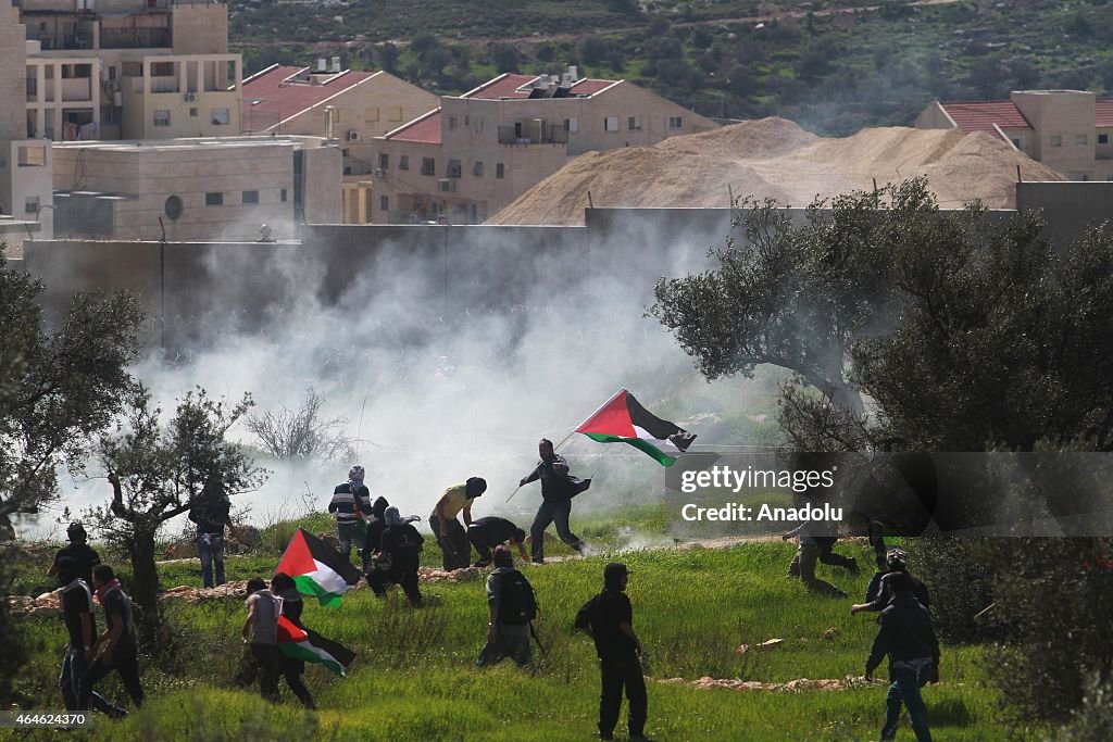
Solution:
M 55 151 L 55 234 L 177 241 L 277 239 L 342 219 L 336 142 L 321 137 L 73 141 Z

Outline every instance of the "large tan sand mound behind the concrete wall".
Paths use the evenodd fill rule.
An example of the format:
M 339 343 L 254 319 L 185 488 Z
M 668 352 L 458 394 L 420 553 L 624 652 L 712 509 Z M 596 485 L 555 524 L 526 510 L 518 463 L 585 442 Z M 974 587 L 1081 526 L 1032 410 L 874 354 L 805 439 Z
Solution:
M 875 180 L 920 175 L 945 207 L 981 199 L 991 208 L 1013 208 L 1017 167 L 1025 180 L 1065 180 L 988 132 L 886 127 L 834 139 L 768 118 L 653 147 L 582 155 L 487 224 L 583 224 L 588 191 L 594 206 L 612 208 L 725 208 L 729 189 L 807 206 L 816 197 L 870 189 Z

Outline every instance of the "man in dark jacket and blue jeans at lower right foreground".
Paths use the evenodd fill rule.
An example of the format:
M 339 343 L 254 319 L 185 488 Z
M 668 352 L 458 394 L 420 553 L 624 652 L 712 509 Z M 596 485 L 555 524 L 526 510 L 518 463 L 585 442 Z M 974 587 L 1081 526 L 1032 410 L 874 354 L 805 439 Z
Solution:
M 881 740 L 895 740 L 900 723 L 900 704 L 908 708 L 908 721 L 917 742 L 930 742 L 927 706 L 919 689 L 939 680 L 939 642 L 932 627 L 932 616 L 913 593 L 907 574 L 888 577 L 893 600 L 881 611 L 880 627 L 866 660 L 866 680 L 885 655 L 889 657 L 889 692 L 885 699 L 885 725 Z

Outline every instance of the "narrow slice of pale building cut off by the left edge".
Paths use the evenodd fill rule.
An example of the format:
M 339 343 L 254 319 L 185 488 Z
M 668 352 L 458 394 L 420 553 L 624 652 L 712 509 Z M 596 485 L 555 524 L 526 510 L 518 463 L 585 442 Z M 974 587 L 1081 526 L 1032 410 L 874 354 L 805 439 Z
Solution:
M 37 237 L 52 235 L 52 151 L 49 140 L 29 139 L 24 100 L 26 28 L 0 0 L 0 215 L 39 222 Z

